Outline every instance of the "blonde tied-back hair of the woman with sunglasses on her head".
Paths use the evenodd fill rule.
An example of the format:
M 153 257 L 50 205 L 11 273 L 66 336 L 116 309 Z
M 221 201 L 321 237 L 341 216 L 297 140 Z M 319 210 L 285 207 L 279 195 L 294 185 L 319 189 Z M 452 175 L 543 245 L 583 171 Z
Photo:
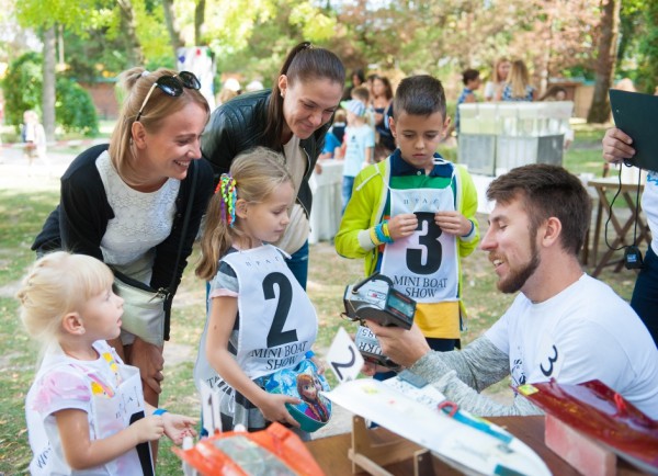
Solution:
M 124 180 L 131 175 L 132 161 L 135 160 L 131 151 L 133 123 L 137 118 L 144 98 L 162 76 L 175 75 L 178 75 L 178 71 L 172 69 L 160 68 L 157 71 L 148 72 L 141 67 L 136 67 L 122 72 L 120 76 L 120 83 L 125 94 L 118 120 L 110 138 L 109 152 L 114 168 Z M 170 97 L 160 91 L 160 88 L 156 88 L 145 104 L 139 122 L 148 133 L 155 134 L 162 127 L 167 117 L 175 114 L 190 103 L 198 104 L 205 111 L 206 120 L 209 117 L 211 107 L 200 91 L 183 88 L 181 95 Z M 127 181 L 133 183 L 132 180 Z

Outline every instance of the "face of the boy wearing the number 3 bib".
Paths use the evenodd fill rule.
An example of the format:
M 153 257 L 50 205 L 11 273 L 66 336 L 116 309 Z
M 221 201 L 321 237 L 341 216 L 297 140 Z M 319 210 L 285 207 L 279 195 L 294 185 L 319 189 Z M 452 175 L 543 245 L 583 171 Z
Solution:
M 390 118 L 390 131 L 396 138 L 402 159 L 418 169 L 432 170 L 434 152 L 443 138 L 450 118 L 441 112 L 428 116 L 401 112 Z

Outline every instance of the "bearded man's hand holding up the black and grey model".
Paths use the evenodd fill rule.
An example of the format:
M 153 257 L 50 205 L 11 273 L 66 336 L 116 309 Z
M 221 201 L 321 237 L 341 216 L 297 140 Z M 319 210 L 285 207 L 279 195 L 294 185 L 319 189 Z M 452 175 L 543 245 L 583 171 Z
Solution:
M 384 355 L 405 367 L 410 367 L 431 350 L 416 325 L 405 330 L 397 326 L 379 326 L 368 320 L 367 327 L 379 341 Z

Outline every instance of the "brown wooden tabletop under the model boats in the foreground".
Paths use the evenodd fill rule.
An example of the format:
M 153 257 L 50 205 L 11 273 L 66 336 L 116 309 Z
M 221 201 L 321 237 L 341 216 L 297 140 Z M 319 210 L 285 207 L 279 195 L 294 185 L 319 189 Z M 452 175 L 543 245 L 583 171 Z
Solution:
M 542 460 L 555 476 L 579 475 L 572 466 L 555 454 L 544 444 L 544 417 L 496 417 L 487 418 L 489 421 L 506 428 L 514 437 L 527 444 Z M 400 437 L 384 428 L 368 430 L 372 439 L 381 442 L 394 441 Z M 306 443 L 327 476 L 347 476 L 352 474 L 352 462 L 348 458 L 348 452 L 352 444 L 351 433 L 311 440 Z M 463 473 L 449 466 L 446 463 L 433 458 L 433 472 L 435 475 L 462 475 Z M 413 465 L 411 460 L 385 466 L 385 469 L 394 475 L 412 475 Z M 364 473 L 360 473 L 364 474 Z M 617 460 L 617 475 L 637 474 L 631 465 Z

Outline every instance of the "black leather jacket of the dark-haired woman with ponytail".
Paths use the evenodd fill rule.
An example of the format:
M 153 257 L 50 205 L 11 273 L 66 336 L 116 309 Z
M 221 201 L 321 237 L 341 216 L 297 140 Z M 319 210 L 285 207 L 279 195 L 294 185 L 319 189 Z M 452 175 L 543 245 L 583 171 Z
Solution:
M 203 157 L 213 165 L 215 183 L 219 174 L 228 172 L 230 162 L 238 154 L 257 146 L 269 147 L 263 143 L 263 131 L 268 121 L 268 104 L 271 95 L 272 91 L 269 89 L 241 94 L 222 104 L 211 115 L 211 121 L 201 138 L 201 150 Z M 307 214 L 310 213 L 313 203 L 308 179 L 322 151 L 325 136 L 330 125 L 330 123 L 325 124 L 309 138 L 299 141 L 308 160 L 297 200 Z

